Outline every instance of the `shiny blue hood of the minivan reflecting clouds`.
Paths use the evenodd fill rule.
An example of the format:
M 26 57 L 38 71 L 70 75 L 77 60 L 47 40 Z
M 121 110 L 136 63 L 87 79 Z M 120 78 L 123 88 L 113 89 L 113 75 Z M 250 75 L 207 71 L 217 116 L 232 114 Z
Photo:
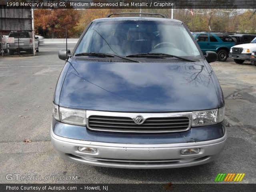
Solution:
M 73 60 L 63 82 L 59 105 L 120 112 L 178 112 L 219 107 L 214 83 L 203 62 L 169 61 Z

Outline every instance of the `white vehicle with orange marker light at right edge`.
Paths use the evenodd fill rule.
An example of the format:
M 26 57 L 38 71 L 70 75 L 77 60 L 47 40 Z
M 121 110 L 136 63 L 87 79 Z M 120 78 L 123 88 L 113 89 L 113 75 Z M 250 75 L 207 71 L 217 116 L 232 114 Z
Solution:
M 242 64 L 245 60 L 250 61 L 252 52 L 256 51 L 256 38 L 250 43 L 240 44 L 230 48 L 229 57 L 237 64 Z

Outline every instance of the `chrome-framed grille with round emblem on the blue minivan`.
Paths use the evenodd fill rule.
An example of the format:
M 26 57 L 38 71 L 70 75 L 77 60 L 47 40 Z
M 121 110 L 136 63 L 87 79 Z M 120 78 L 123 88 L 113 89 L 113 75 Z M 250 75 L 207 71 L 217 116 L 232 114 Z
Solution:
M 190 113 L 185 113 L 185 115 L 180 113 L 141 113 L 140 115 L 145 119 L 143 124 L 136 124 L 134 122 L 133 118 L 138 114 L 111 113 L 112 112 L 102 112 L 104 115 L 98 115 L 90 114 L 89 112 L 89 115 L 87 111 L 87 127 L 91 130 L 110 132 L 180 132 L 190 128 Z

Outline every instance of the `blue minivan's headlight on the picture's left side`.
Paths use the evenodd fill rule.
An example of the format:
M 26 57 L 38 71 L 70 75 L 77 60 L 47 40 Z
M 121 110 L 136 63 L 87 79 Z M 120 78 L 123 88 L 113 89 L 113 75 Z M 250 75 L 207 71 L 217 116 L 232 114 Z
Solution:
M 60 121 L 86 126 L 86 110 L 60 107 Z

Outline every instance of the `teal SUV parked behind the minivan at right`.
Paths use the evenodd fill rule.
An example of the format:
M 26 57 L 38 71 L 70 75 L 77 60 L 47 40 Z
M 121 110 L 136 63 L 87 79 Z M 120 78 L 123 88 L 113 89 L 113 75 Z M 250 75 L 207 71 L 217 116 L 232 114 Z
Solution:
M 224 33 L 200 32 L 193 33 L 202 52 L 214 51 L 218 55 L 218 61 L 226 61 L 228 52 L 232 46 L 235 45 L 234 40 Z

